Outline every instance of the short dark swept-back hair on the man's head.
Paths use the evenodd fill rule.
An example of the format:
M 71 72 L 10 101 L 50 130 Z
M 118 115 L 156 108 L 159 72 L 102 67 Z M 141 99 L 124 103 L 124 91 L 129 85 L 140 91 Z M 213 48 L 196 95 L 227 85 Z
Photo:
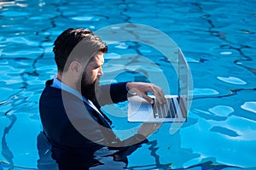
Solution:
M 84 42 L 82 45 L 87 46 L 83 47 L 83 53 L 89 53 L 87 57 L 91 57 L 90 54 L 96 54 L 97 52 L 107 53 L 108 47 L 105 42 L 102 42 L 100 37 L 97 37 L 89 29 L 73 29 L 69 28 L 66 31 L 63 31 L 59 37 L 56 38 L 54 42 L 53 52 L 55 54 L 55 62 L 58 67 L 58 71 L 64 71 L 65 65 L 67 66 L 73 61 L 73 59 L 84 57 L 81 56 L 82 53 L 78 53 L 76 57 L 67 59 L 69 55 L 73 52 L 79 42 Z M 89 51 L 89 52 L 86 52 Z M 79 55 L 79 56 L 78 56 Z

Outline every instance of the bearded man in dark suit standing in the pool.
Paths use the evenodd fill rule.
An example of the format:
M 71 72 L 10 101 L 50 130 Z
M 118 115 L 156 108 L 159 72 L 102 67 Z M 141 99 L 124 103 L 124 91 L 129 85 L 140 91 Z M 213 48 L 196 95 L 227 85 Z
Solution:
M 99 86 L 103 54 L 108 47 L 89 29 L 67 29 L 57 37 L 54 46 L 58 73 L 46 82 L 39 101 L 44 132 L 38 139 L 51 144 L 51 156 L 59 169 L 101 167 L 103 163 L 96 157 L 102 153 L 98 150 L 106 149 L 104 146 L 108 146 L 108 151 L 116 150 L 106 152 L 114 161 L 127 164 L 125 156 L 146 142 L 160 124 L 144 123 L 136 135 L 120 141 L 111 130 L 108 116 L 102 113 L 101 105 L 125 101 L 129 93 L 140 95 L 153 104 L 148 92 L 163 103 L 161 88 L 143 82 Z M 38 144 L 39 152 L 44 149 Z

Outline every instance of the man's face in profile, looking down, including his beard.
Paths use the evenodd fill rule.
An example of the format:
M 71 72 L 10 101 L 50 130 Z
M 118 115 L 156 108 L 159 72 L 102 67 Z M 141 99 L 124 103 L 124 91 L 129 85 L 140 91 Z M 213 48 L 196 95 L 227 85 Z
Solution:
M 99 81 L 103 75 L 102 65 L 104 64 L 103 53 L 99 52 L 94 59 L 85 67 L 82 82 L 81 93 L 87 99 L 95 99 L 99 89 Z

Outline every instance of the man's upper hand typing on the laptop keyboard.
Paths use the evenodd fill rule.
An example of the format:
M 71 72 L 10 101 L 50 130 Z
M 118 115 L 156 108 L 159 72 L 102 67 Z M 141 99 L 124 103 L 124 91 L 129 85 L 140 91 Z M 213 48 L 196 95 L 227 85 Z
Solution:
M 162 88 L 154 85 L 153 83 L 146 82 L 127 82 L 126 87 L 132 92 L 143 99 L 146 99 L 150 104 L 154 104 L 154 99 L 151 99 L 148 96 L 148 92 L 154 94 L 156 99 L 160 102 L 160 104 L 164 104 L 166 102 L 165 95 L 163 93 Z

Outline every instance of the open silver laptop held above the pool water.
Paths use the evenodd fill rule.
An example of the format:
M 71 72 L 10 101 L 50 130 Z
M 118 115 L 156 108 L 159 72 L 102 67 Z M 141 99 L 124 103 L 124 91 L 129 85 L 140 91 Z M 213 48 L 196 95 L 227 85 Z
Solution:
M 188 115 L 188 65 L 180 48 L 177 50 L 177 95 L 165 95 L 160 105 L 153 95 L 154 105 L 138 95 L 128 98 L 128 122 L 186 122 Z

